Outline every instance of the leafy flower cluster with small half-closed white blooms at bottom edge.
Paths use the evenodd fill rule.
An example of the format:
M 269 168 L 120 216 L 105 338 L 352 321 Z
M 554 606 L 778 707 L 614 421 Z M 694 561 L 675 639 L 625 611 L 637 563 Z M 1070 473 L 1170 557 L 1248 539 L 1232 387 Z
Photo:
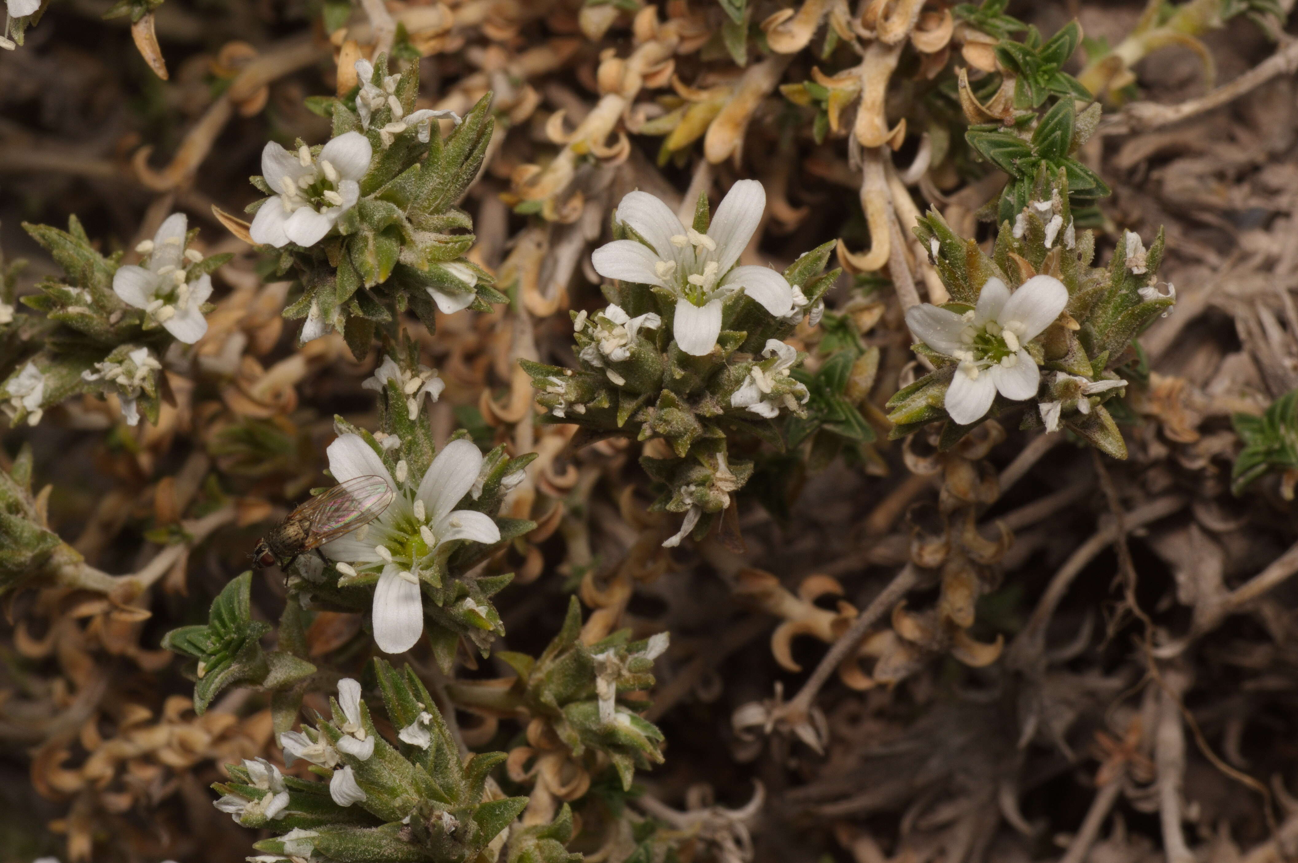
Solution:
M 414 671 L 379 659 L 375 674 L 387 716 L 401 729 L 397 741 L 379 735 L 361 684 L 344 677 L 331 719 L 279 736 L 286 760 L 310 762 L 327 784 L 284 776 L 257 759 L 227 767 L 230 781 L 213 785 L 217 808 L 278 833 L 257 842 L 265 857 L 252 859 L 465 863 L 502 845 L 501 832 L 527 805 L 488 785 L 505 754 L 462 759 Z

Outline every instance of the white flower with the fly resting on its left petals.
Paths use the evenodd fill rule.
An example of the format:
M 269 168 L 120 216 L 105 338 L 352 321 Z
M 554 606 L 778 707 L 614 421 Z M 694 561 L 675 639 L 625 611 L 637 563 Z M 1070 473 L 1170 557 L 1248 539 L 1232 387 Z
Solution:
M 360 435 L 343 435 L 328 446 L 330 472 L 339 483 L 354 476 L 382 476 L 396 500 L 370 524 L 322 546 L 334 561 L 358 572 L 378 572 L 374 592 L 374 640 L 384 653 L 404 653 L 423 632 L 419 572 L 435 555 L 449 554 L 448 542 L 500 541 L 500 528 L 485 513 L 454 510 L 472 489 L 483 456 L 471 441 L 453 440 L 432 459 L 418 484 L 393 480 L 378 453 Z M 410 481 L 408 481 L 408 479 Z M 363 532 L 363 539 L 362 539 Z

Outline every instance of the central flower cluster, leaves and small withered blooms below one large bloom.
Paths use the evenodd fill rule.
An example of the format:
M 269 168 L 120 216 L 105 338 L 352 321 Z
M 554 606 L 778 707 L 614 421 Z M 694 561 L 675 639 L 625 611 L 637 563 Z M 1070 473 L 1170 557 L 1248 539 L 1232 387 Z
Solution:
M 829 245 L 784 273 L 737 265 L 762 219 L 766 192 L 740 180 L 710 215 L 700 197 L 691 226 L 646 192 L 618 205 L 614 239 L 591 257 L 614 286 L 610 304 L 572 313 L 580 370 L 523 362 L 537 402 L 591 436 L 663 439 L 674 458 L 641 458 L 663 493 L 657 510 L 685 514 L 676 545 L 702 535 L 748 481 L 752 462 L 729 456 L 739 435 L 780 445 L 770 427 L 806 417 L 797 349 L 783 340 L 818 314 L 837 278 Z

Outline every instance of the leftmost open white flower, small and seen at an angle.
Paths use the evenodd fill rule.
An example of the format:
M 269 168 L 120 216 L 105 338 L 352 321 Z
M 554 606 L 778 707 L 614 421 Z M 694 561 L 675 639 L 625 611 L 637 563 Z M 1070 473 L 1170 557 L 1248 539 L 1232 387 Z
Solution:
M 148 318 L 179 341 L 192 345 L 208 332 L 200 306 L 212 296 L 212 276 L 204 273 L 190 280 L 186 274 L 186 262 L 191 261 L 184 253 L 187 225 L 184 213 L 166 217 L 153 239 L 136 247 L 148 254 L 145 266 L 118 267 L 113 292 L 129 305 L 144 309 Z

